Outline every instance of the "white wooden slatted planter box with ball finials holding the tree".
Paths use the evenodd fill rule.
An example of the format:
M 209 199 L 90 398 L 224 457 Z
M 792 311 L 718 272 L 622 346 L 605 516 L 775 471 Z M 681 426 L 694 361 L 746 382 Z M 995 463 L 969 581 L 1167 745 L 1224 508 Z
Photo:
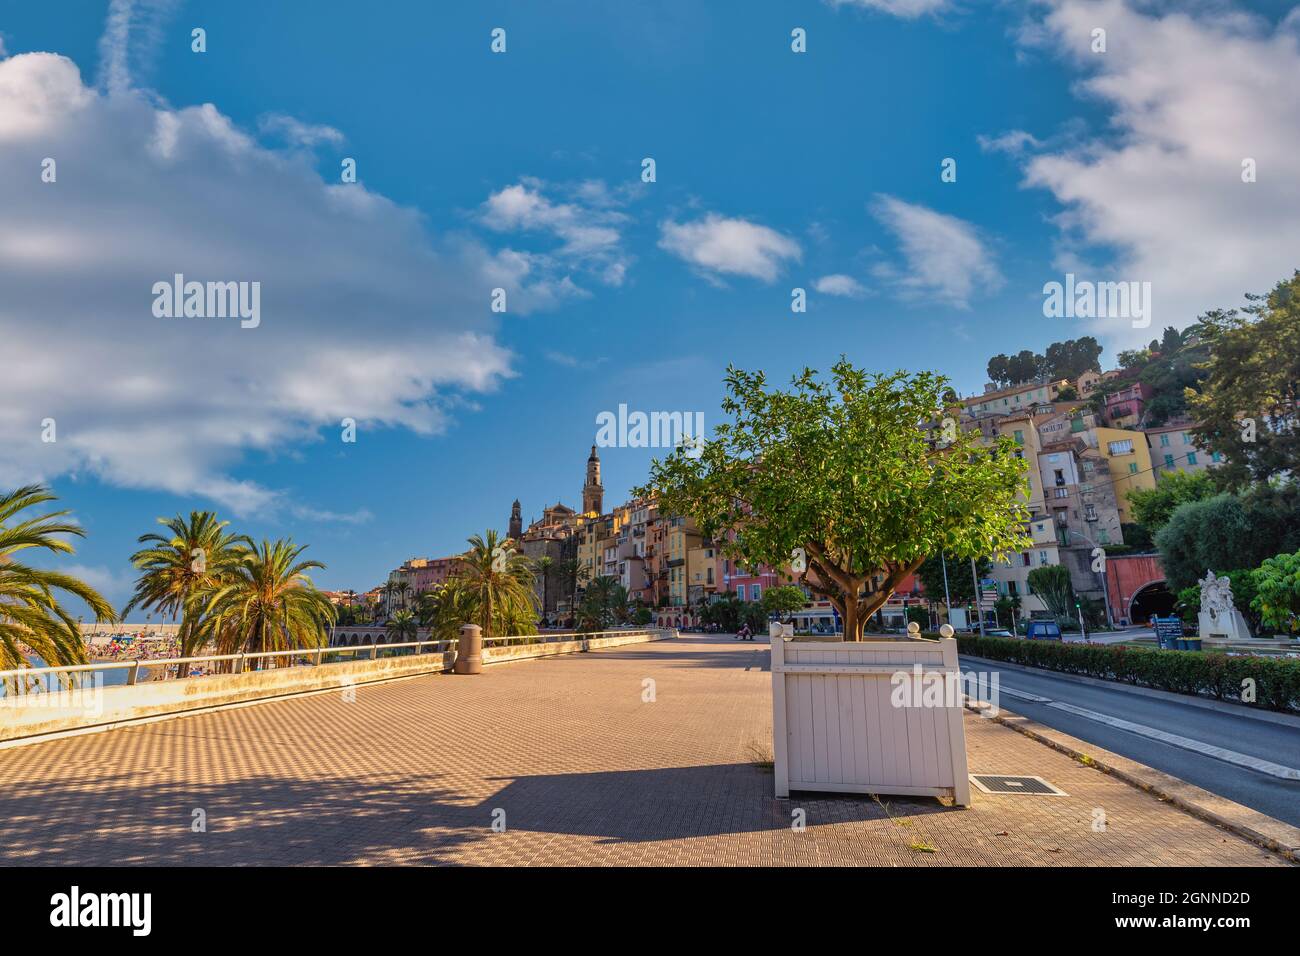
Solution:
M 906 675 L 906 692 L 894 692 L 897 674 Z M 915 693 L 926 685 L 930 695 Z M 913 706 L 897 705 L 909 696 Z M 823 644 L 774 635 L 772 754 L 779 797 L 792 790 L 898 793 L 968 806 L 957 641 Z

